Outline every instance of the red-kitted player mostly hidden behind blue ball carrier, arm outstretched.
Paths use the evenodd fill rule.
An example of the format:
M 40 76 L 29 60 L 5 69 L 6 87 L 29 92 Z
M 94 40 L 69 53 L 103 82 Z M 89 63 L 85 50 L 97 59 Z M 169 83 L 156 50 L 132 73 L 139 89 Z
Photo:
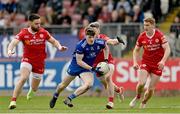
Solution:
M 98 22 L 93 22 L 89 24 L 90 27 L 93 27 L 96 29 L 96 34 L 98 38 L 106 40 L 107 44 L 110 45 L 117 45 L 119 43 L 123 43 L 123 40 L 120 39 L 120 37 L 116 37 L 115 39 L 110 39 L 108 36 L 105 34 L 100 34 L 100 24 Z M 124 100 L 124 95 L 123 95 L 123 87 L 117 87 L 113 81 L 112 81 L 112 76 L 114 73 L 114 59 L 112 54 L 109 54 L 108 60 L 104 60 L 104 52 L 101 51 L 94 62 L 94 66 L 96 66 L 99 62 L 106 61 L 109 64 L 110 71 L 105 75 L 105 76 L 98 76 L 104 87 L 106 88 L 108 92 L 108 103 L 106 105 L 106 108 L 112 109 L 114 106 L 113 100 L 114 100 L 114 91 L 117 92 L 120 96 L 121 101 Z

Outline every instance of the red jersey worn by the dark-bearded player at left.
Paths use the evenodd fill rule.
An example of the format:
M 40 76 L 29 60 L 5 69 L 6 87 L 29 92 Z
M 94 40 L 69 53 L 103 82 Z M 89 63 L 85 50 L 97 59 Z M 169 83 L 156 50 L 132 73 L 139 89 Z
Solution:
M 28 28 L 22 29 L 16 35 L 16 39 L 22 41 L 24 45 L 24 60 L 22 61 L 44 62 L 44 59 L 46 58 L 45 43 L 49 38 L 49 32 L 43 28 L 40 28 L 35 34 L 32 34 Z

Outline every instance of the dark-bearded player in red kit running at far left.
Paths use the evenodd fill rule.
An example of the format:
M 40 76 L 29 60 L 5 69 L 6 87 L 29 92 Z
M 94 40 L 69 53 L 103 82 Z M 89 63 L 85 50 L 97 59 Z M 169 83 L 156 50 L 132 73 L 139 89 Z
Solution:
M 54 45 L 58 50 L 65 51 L 67 47 L 62 46 L 48 31 L 40 26 L 40 16 L 31 14 L 28 18 L 30 26 L 23 28 L 8 46 L 8 56 L 14 54 L 14 47 L 21 41 L 24 45 L 23 57 L 20 66 L 20 79 L 15 86 L 9 109 L 16 108 L 16 99 L 18 98 L 24 83 L 32 72 L 33 78 L 30 91 L 37 91 L 45 66 L 45 46 L 46 41 Z

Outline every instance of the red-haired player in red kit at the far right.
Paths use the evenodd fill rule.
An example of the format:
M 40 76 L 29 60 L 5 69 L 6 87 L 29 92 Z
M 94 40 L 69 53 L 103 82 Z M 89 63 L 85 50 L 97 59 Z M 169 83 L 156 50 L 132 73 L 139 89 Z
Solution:
M 140 108 L 146 107 L 146 103 L 154 93 L 155 86 L 162 75 L 164 64 L 170 54 L 169 44 L 164 34 L 155 28 L 153 18 L 144 19 L 144 30 L 139 35 L 133 51 L 133 67 L 135 70 L 139 68 L 140 70 L 136 86 L 136 97 L 130 102 L 130 107 L 134 107 L 137 101 L 140 100 L 144 87 L 146 87 L 146 91 Z M 144 52 L 139 66 L 137 56 L 141 47 L 143 47 Z

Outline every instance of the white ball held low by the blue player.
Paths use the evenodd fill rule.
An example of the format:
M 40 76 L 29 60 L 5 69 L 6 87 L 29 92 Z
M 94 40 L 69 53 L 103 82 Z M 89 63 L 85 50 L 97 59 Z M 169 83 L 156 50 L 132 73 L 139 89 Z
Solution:
M 100 67 L 99 70 L 102 71 L 104 75 L 106 73 L 108 73 L 109 70 L 110 70 L 108 63 L 106 63 L 106 62 L 100 62 L 100 63 L 97 64 L 96 67 Z

